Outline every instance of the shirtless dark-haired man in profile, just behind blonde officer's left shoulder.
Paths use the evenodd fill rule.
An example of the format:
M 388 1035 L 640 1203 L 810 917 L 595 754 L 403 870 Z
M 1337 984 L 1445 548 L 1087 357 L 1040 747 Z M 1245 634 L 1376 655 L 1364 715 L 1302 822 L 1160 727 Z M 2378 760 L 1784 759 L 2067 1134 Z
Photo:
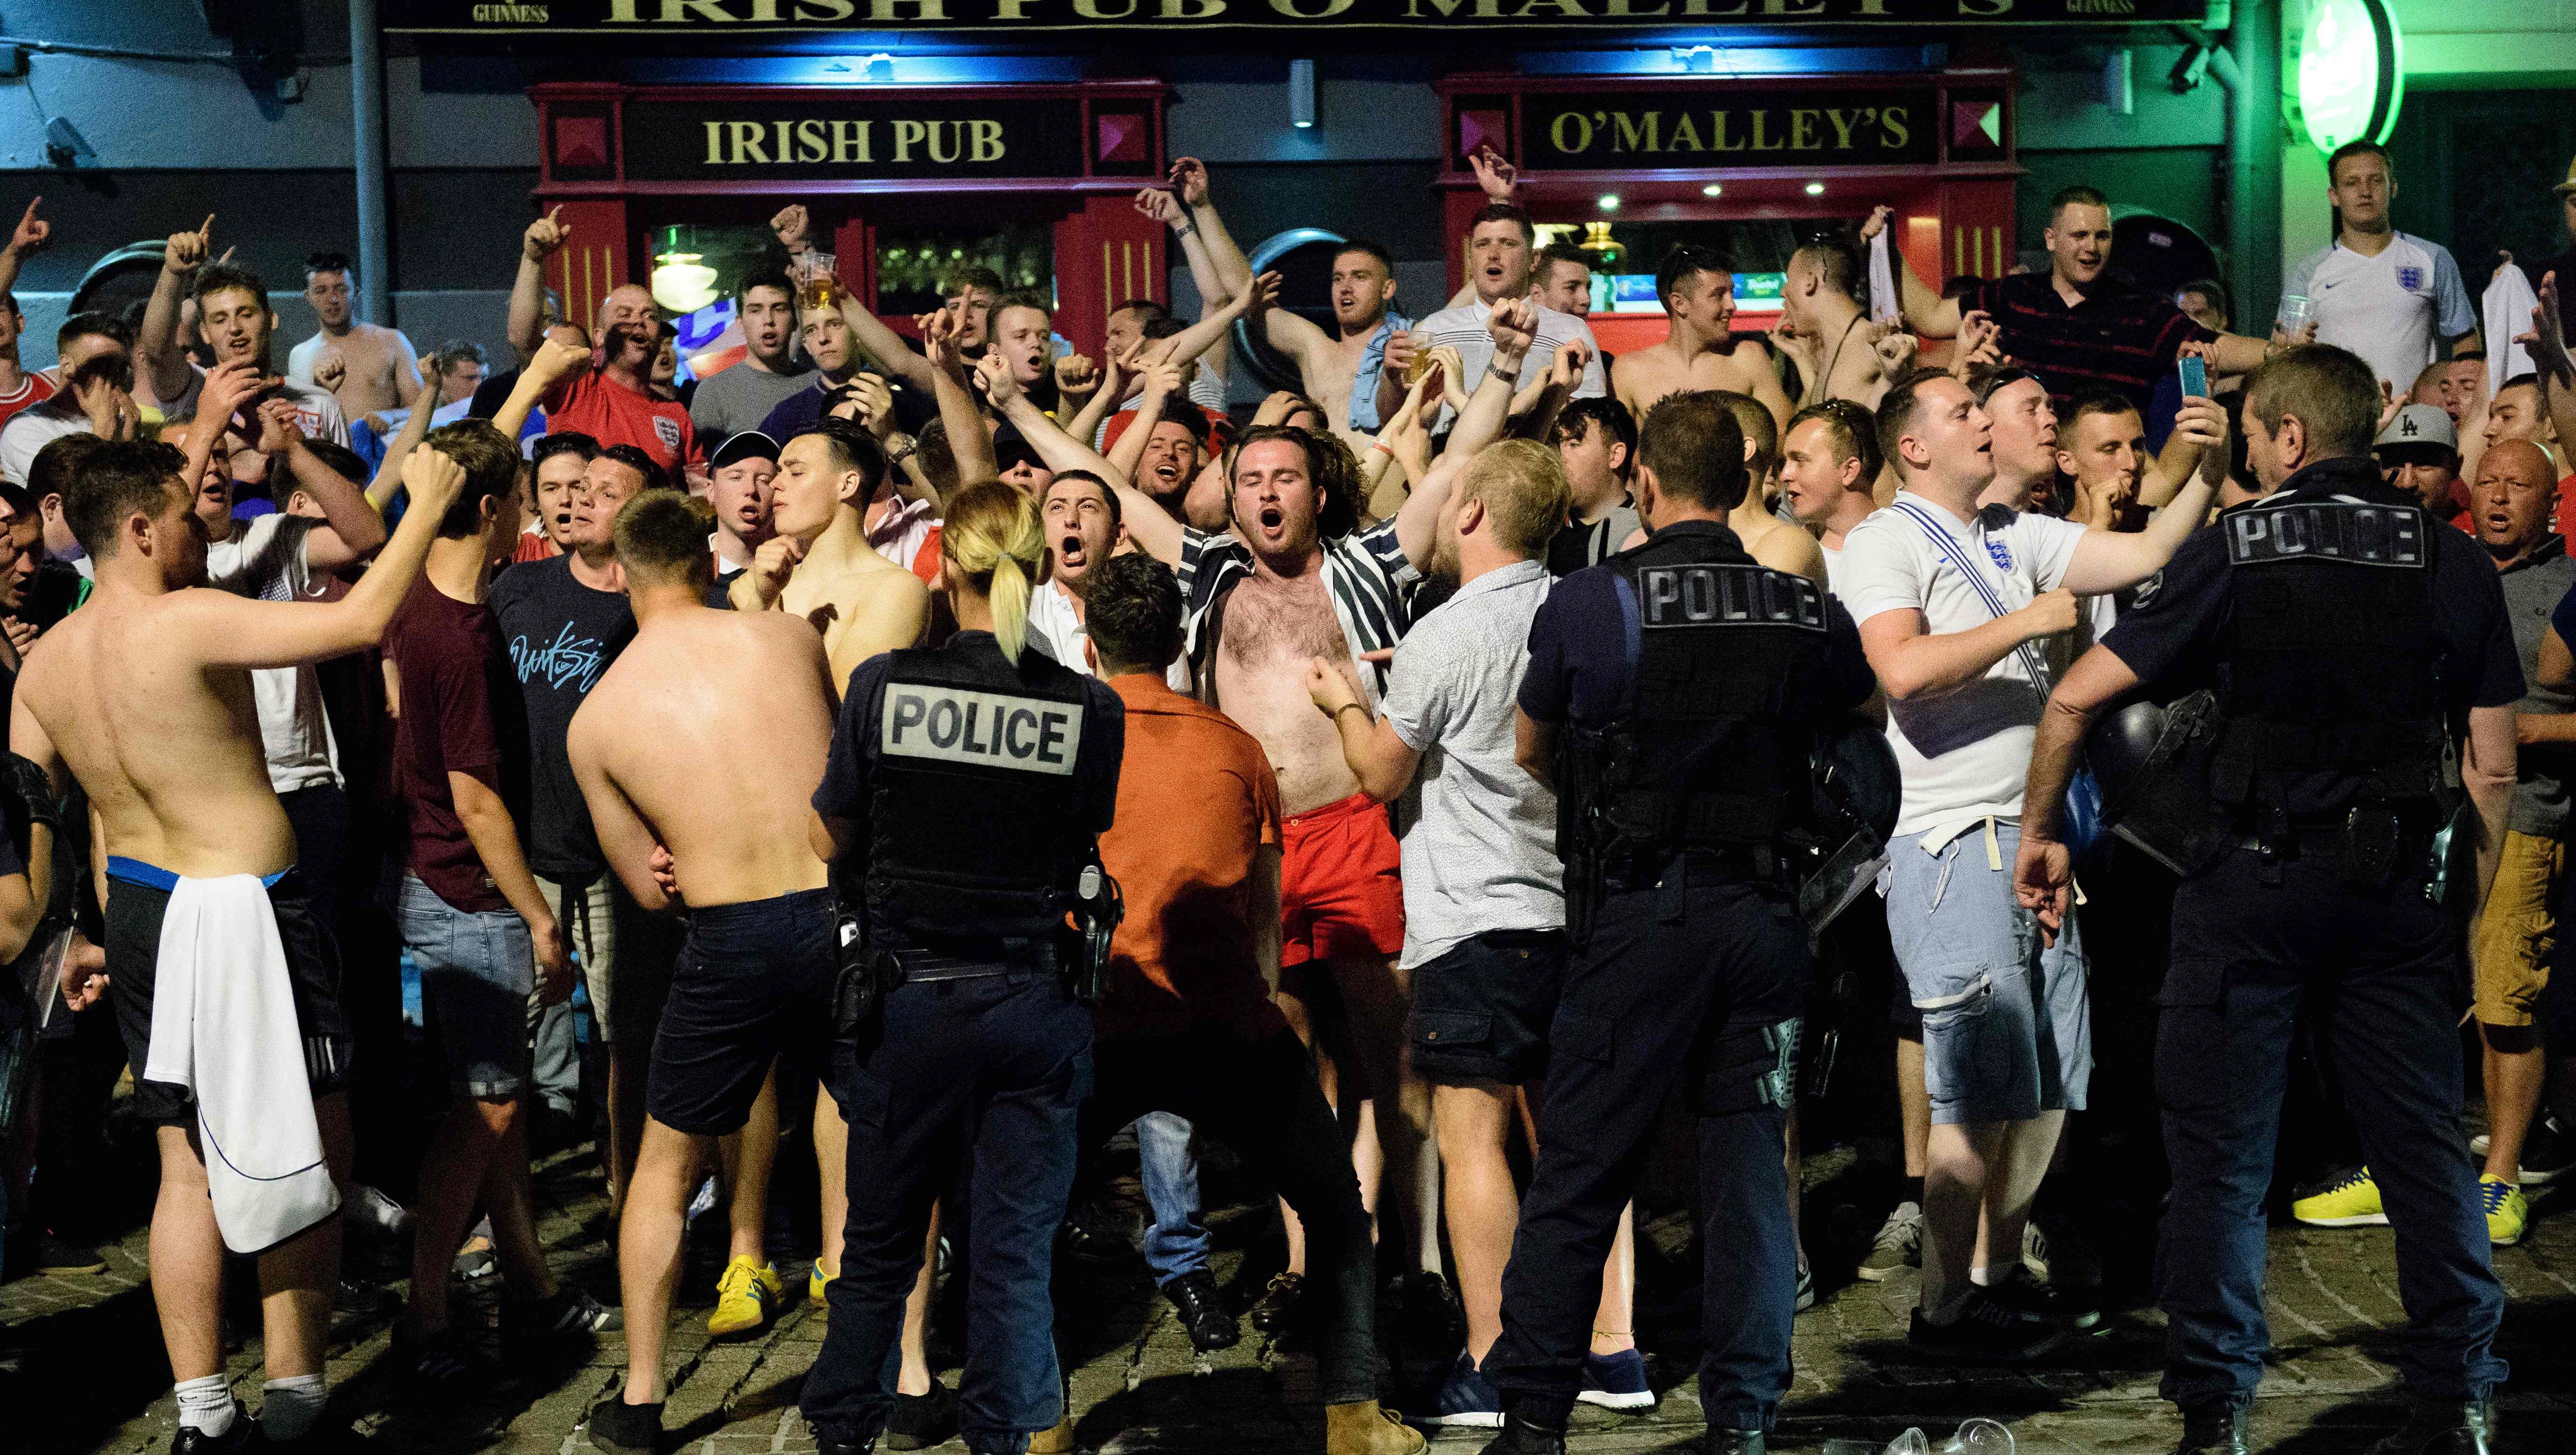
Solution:
M 770 528 L 732 587 L 734 610 L 788 610 L 814 623 L 848 682 L 878 652 L 912 646 L 930 621 L 930 587 L 868 546 L 860 515 L 886 456 L 858 425 L 827 420 L 778 451 Z

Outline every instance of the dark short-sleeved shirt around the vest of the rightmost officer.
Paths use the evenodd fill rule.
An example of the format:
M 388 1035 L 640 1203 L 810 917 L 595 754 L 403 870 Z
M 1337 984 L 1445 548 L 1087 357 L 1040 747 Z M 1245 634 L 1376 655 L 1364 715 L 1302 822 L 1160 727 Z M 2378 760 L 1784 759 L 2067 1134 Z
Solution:
M 2362 500 L 2370 505 L 2419 505 L 2416 497 L 2380 484 L 2367 458 L 2318 461 L 2262 502 L 2239 510 L 2264 510 L 2290 500 Z M 2231 512 L 2233 515 L 2233 512 Z M 2432 631 L 2434 672 L 2442 713 L 2452 734 L 2463 734 L 2468 708 L 2509 708 L 2522 700 L 2522 657 L 2514 652 L 2514 626 L 2504 615 L 2504 587 L 2496 564 L 2476 536 L 2429 520 L 2432 536 Z M 2156 700 L 2182 698 L 2218 685 L 2218 670 L 2236 657 L 2233 592 L 2228 590 L 2228 543 L 2223 530 L 2195 530 L 2174 559 L 2138 587 L 2117 626 L 2102 636 L 2110 649 Z M 2352 796 L 2349 775 L 2316 773 L 2293 788 L 2293 811 L 2303 803 L 2331 809 Z

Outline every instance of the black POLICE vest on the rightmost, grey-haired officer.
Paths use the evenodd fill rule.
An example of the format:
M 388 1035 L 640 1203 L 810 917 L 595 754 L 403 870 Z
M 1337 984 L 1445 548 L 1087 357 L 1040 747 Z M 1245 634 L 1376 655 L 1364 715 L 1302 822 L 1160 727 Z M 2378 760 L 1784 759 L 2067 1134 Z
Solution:
M 2439 525 L 2414 505 L 2316 497 L 2239 510 L 2218 525 L 2236 641 L 2210 798 L 2269 809 L 2280 821 L 2290 778 L 2342 773 L 2362 780 L 2347 801 L 2439 803 Z

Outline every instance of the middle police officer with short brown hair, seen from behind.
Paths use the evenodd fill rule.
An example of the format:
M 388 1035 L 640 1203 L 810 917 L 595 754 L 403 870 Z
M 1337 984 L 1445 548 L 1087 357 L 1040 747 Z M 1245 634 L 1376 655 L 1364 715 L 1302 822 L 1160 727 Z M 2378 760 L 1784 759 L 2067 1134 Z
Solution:
M 1759 1455 L 1788 1391 L 1783 1156 L 1811 966 L 1783 845 L 1816 731 L 1873 677 L 1842 605 L 1726 528 L 1744 435 L 1718 394 L 1654 407 L 1636 497 L 1654 538 L 1548 592 L 1520 685 L 1520 765 L 1558 791 L 1577 953 L 1481 1365 L 1504 1406 L 1489 1455 L 1564 1450 L 1602 1254 L 1674 1087 L 1700 1118 L 1710 1450 Z

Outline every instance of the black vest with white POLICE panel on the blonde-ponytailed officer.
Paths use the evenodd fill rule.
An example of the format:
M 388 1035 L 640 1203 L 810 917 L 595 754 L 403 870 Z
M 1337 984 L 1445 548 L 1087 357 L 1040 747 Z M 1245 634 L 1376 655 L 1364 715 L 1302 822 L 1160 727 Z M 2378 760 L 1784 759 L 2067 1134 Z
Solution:
M 1064 930 L 1092 834 L 1074 821 L 1082 677 L 1025 652 L 894 654 L 871 770 L 868 901 L 922 948 Z

